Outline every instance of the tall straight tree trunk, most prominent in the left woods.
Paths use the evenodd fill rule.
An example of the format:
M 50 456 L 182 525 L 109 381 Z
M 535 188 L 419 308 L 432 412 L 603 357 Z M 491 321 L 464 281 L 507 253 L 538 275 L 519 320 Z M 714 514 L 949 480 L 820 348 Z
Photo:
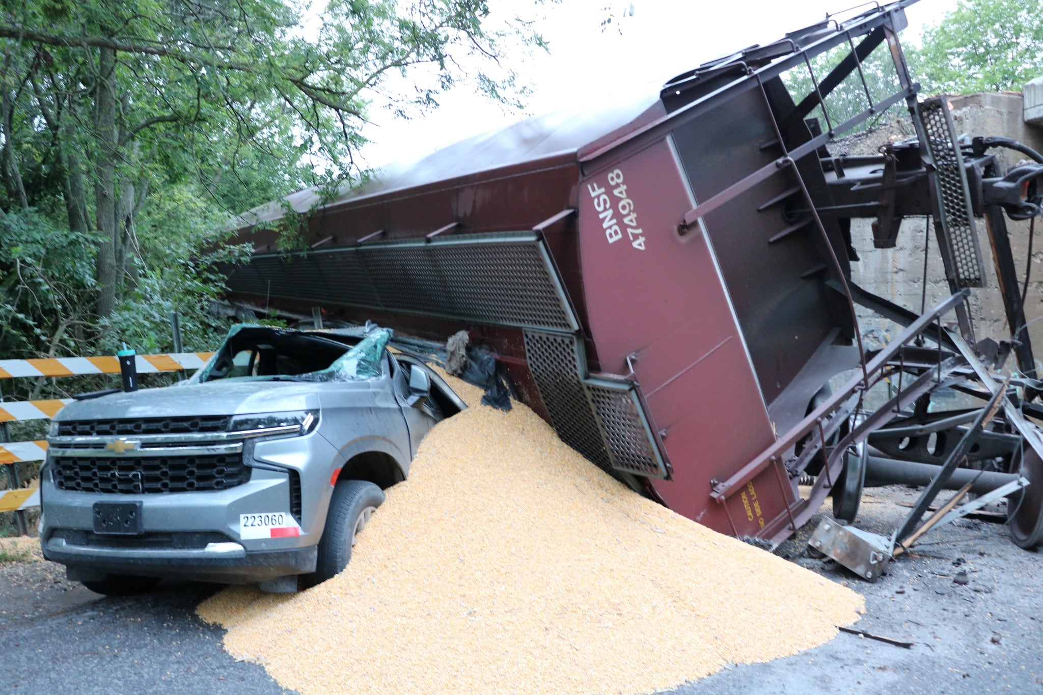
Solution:
M 100 151 L 95 163 L 95 216 L 100 232 L 98 257 L 95 262 L 95 281 L 98 284 L 97 314 L 103 318 L 116 308 L 118 271 L 121 264 L 116 257 L 116 154 L 119 147 L 116 129 L 116 51 L 99 49 L 98 84 L 95 90 L 94 128 Z

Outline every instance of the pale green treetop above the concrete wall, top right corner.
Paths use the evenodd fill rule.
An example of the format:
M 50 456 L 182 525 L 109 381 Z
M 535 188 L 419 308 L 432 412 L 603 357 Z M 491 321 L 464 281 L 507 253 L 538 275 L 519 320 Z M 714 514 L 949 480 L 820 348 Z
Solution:
M 926 94 L 1020 92 L 1043 65 L 1043 2 L 960 0 L 906 51 Z

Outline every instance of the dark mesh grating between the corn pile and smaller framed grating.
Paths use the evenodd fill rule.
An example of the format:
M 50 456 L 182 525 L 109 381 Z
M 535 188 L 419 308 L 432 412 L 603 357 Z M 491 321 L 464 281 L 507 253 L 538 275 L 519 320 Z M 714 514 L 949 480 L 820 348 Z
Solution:
M 529 371 L 558 437 L 599 468 L 611 473 L 612 462 L 580 379 L 582 363 L 578 341 L 572 336 L 527 330 L 525 351 Z

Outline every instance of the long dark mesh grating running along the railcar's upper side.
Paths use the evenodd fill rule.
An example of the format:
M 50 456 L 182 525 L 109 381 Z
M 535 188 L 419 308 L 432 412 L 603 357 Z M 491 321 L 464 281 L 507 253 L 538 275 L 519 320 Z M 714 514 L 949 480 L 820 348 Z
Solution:
M 223 264 L 228 288 L 264 297 L 573 332 L 557 272 L 533 232 L 364 244 Z

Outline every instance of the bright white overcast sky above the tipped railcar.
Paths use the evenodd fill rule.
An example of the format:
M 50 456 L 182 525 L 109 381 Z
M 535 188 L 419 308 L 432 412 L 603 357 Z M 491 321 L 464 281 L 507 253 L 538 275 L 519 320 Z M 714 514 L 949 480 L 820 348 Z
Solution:
M 529 80 L 533 95 L 525 113 L 476 97 L 470 89 L 444 94 L 441 106 L 422 119 L 402 120 L 373 108 L 364 130 L 371 141 L 365 164 L 380 167 L 509 125 L 527 116 L 611 94 L 647 91 L 707 59 L 752 44 L 767 44 L 786 31 L 819 22 L 856 0 L 633 0 L 633 15 L 621 17 L 622 0 L 562 0 L 544 7 L 538 30 L 550 42 L 550 54 L 536 54 L 514 69 Z M 531 0 L 492 0 L 493 11 L 531 7 Z M 869 3 L 867 3 L 869 4 Z M 923 26 L 937 24 L 956 0 L 920 0 L 906 8 L 909 26 L 902 34 L 917 43 Z M 607 9 L 606 9 L 607 7 Z M 602 31 L 609 14 L 621 19 Z M 843 18 L 842 18 L 843 19 Z M 613 21 L 613 25 L 615 21 Z

